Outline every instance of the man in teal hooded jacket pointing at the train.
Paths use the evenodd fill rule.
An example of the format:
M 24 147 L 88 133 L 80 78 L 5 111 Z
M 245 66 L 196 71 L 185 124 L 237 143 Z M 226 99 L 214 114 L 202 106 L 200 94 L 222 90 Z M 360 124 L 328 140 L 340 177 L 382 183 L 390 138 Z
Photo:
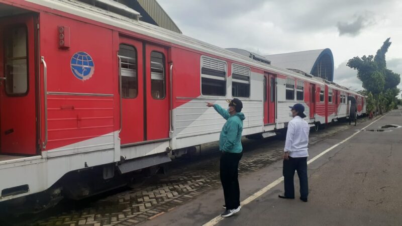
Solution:
M 207 106 L 214 107 L 216 111 L 226 120 L 219 137 L 219 149 L 222 152 L 220 162 L 220 175 L 225 196 L 226 211 L 221 214 L 228 217 L 240 211 L 240 188 L 238 180 L 239 161 L 243 155 L 243 147 L 241 143 L 243 132 L 244 114 L 241 112 L 243 103 L 241 100 L 234 98 L 227 100 L 229 103 L 228 110 L 223 109 L 220 105 L 207 103 Z

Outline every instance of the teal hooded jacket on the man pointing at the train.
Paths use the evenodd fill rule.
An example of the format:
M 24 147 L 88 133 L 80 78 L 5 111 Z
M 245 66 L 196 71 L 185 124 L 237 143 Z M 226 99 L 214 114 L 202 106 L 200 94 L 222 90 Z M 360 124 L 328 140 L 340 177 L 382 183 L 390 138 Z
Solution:
M 231 153 L 241 153 L 243 151 L 241 139 L 243 132 L 243 120 L 246 118 L 242 112 L 237 112 L 231 116 L 229 112 L 220 105 L 215 104 L 214 109 L 226 119 L 219 137 L 219 150 Z

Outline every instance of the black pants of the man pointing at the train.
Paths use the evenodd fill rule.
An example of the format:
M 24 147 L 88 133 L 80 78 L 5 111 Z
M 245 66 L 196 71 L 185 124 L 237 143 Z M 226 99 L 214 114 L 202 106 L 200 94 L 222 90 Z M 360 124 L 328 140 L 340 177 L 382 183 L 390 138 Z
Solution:
M 223 152 L 221 156 L 220 174 L 226 209 L 236 209 L 240 205 L 238 167 L 242 155 L 243 153 Z

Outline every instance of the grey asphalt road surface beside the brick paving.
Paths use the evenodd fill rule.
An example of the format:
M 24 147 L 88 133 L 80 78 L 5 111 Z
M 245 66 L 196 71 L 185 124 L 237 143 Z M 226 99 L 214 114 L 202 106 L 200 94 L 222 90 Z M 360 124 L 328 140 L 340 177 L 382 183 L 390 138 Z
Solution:
M 310 145 L 310 157 L 339 144 L 374 121 Z M 385 124 L 402 126 L 402 110 L 394 110 L 365 129 Z M 218 225 L 401 225 L 402 128 L 389 132 L 361 131 L 309 164 L 309 202 L 277 197 L 283 182 L 243 205 Z M 281 177 L 282 163 L 240 178 L 241 200 Z M 298 183 L 295 176 L 295 185 Z M 223 212 L 222 189 L 214 189 L 143 225 L 202 225 Z M 221 221 L 219 221 L 222 219 Z M 214 225 L 210 223 L 208 225 Z

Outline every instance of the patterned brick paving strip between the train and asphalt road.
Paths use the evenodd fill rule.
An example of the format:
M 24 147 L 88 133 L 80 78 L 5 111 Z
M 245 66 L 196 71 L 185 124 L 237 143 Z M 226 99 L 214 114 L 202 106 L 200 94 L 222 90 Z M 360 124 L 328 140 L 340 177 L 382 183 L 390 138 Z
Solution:
M 367 119 L 358 121 L 358 127 L 367 124 Z M 338 123 L 326 130 L 312 133 L 310 144 L 317 146 L 327 144 L 331 137 L 342 137 L 343 131 L 354 131 L 356 127 Z M 342 132 L 342 133 L 341 133 Z M 329 142 L 331 143 L 331 142 Z M 244 155 L 240 163 L 242 196 L 253 193 L 280 174 L 278 160 L 282 157 L 284 141 L 279 138 L 264 140 L 243 140 Z M 329 144 L 328 144 L 329 145 Z M 41 214 L 29 215 L 7 220 L 10 224 L 20 225 L 133 225 L 148 222 L 164 225 L 169 216 L 182 217 L 180 209 L 194 207 L 210 197 L 222 204 L 222 191 L 219 181 L 219 153 L 217 144 L 202 146 L 203 154 L 192 158 L 174 161 L 168 175 L 158 175 L 136 189 L 120 189 L 83 201 L 63 201 L 58 206 Z M 267 167 L 273 167 L 272 172 Z M 278 171 L 278 172 L 276 172 Z M 256 183 L 258 182 L 258 183 Z M 211 196 L 211 194 L 213 194 Z M 204 203 L 207 204 L 208 202 Z M 200 207 L 204 205 L 198 203 Z M 245 212 L 246 206 L 242 209 Z M 187 209 L 189 210 L 189 209 Z M 210 214 L 203 215 L 207 222 L 222 209 L 210 208 Z M 173 215 L 171 215 L 173 214 Z M 201 221 L 191 221 L 190 213 L 187 223 L 198 225 Z M 163 219 L 161 222 L 160 220 Z M 195 218 L 193 218 L 195 219 Z M 172 221 L 172 219 L 168 219 Z M 173 220 L 174 222 L 175 220 Z

